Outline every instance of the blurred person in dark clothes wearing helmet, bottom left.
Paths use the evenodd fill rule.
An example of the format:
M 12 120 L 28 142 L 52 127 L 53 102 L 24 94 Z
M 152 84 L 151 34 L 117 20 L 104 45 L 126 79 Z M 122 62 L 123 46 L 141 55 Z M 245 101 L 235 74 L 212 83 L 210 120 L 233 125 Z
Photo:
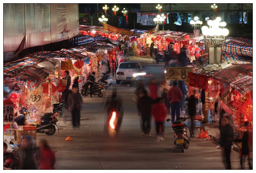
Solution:
M 33 136 L 21 136 L 21 145 L 16 153 L 20 161 L 19 169 L 37 169 L 35 144 L 36 139 Z

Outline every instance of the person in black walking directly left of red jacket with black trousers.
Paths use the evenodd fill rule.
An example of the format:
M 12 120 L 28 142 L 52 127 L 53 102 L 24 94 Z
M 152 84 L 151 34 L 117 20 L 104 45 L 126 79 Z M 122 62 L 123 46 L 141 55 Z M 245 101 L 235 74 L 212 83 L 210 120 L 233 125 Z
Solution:
M 148 96 L 147 90 L 140 94 L 137 101 L 137 108 L 141 115 L 141 137 L 151 136 L 151 108 L 153 99 Z

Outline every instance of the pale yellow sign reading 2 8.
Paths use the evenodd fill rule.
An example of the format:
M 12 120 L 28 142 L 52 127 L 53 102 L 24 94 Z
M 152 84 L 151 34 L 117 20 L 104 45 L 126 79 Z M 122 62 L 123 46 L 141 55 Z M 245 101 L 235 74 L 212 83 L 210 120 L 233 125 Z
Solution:
M 188 72 L 193 72 L 193 67 L 167 67 L 165 80 L 187 80 Z

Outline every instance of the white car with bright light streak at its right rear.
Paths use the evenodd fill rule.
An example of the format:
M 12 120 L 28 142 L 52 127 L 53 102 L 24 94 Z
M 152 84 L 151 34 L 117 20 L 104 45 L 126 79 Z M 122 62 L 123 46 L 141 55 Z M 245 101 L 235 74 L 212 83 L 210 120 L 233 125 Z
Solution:
M 136 74 L 145 75 L 146 73 L 142 68 L 145 66 L 141 66 L 140 62 L 136 61 L 126 61 L 121 62 L 116 69 L 116 84 L 120 84 L 120 81 L 132 81 L 136 79 Z

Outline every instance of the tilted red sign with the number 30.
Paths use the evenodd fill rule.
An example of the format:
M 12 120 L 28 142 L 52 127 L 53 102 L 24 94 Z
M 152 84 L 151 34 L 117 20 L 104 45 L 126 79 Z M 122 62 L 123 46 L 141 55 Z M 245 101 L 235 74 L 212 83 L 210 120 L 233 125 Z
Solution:
M 206 89 L 208 85 L 208 79 L 209 76 L 188 72 L 186 85 Z

